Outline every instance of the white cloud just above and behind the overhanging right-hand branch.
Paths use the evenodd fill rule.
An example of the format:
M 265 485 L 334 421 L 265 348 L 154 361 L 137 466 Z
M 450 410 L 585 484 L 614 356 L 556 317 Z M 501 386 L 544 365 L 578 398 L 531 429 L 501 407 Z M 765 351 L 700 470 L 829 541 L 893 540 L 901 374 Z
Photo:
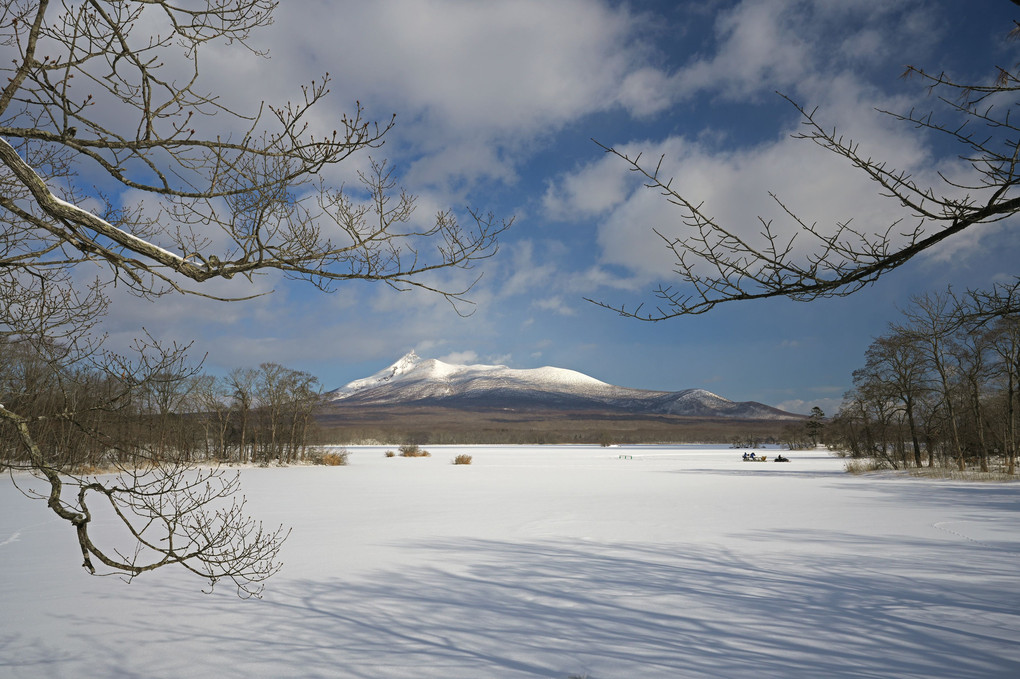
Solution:
M 889 147 L 901 140 L 891 133 L 871 139 L 887 139 Z M 638 146 L 624 150 L 632 155 Z M 678 193 L 701 204 L 716 223 L 759 247 L 765 244 L 759 218 L 771 222 L 783 241 L 799 231 L 799 225 L 770 193 L 805 222 L 817 223 L 823 232 L 832 232 L 837 223 L 850 219 L 867 232 L 880 232 L 907 216 L 898 203 L 880 198 L 874 185 L 849 162 L 805 141 L 782 138 L 758 148 L 718 151 L 670 138 L 643 150 L 646 157 L 665 155 L 665 176 L 673 177 L 672 186 Z M 615 162 L 621 173 L 627 171 L 616 158 L 603 162 Z M 599 243 L 604 261 L 651 278 L 669 275 L 674 256 L 653 229 L 666 238 L 690 236 L 694 230 L 684 224 L 684 217 L 683 209 L 657 192 L 634 189 L 601 222 Z M 798 236 L 797 244 L 795 251 L 801 253 L 817 246 L 804 232 Z

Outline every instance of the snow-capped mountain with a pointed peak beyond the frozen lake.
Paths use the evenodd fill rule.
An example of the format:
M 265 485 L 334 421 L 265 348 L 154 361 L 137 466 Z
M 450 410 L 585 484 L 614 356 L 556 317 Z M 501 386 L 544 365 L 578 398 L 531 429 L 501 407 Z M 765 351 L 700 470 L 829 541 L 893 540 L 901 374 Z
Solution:
M 612 410 L 749 420 L 801 419 L 754 401 L 705 389 L 654 391 L 615 386 L 564 368 L 452 365 L 411 352 L 374 375 L 325 395 L 336 405 L 421 404 L 460 408 Z

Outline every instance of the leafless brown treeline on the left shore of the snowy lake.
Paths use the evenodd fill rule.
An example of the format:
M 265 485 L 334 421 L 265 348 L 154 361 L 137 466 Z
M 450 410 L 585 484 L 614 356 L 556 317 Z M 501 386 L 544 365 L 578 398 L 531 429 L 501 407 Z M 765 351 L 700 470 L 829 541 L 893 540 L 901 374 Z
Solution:
M 214 377 L 189 368 L 180 348 L 144 373 L 68 368 L 27 343 L 0 349 L 0 403 L 28 414 L 33 438 L 57 469 L 288 463 L 303 459 L 312 442 L 319 389 L 307 372 L 263 363 Z M 0 461 L 28 466 L 12 427 L 0 421 Z

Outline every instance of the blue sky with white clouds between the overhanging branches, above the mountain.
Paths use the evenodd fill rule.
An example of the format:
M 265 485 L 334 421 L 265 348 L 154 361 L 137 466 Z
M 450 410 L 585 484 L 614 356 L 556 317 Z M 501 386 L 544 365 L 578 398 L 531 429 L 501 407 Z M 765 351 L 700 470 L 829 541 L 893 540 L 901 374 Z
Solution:
M 373 152 L 396 167 L 427 219 L 470 206 L 514 217 L 475 273 L 474 313 L 425 293 L 362 284 L 323 295 L 265 279 L 272 295 L 223 304 L 120 300 L 111 341 L 195 340 L 222 372 L 274 361 L 326 389 L 422 357 L 518 368 L 554 365 L 654 389 L 708 388 L 797 412 L 834 413 L 851 372 L 911 295 L 988 286 L 1017 273 L 1011 222 L 971 229 L 850 298 L 733 303 L 647 323 L 585 302 L 634 306 L 671 281 L 653 229 L 682 234 L 675 208 L 592 141 L 664 155 L 676 186 L 718 219 L 756 229 L 769 192 L 808 221 L 899 215 L 855 170 L 792 139 L 797 111 L 860 139 L 876 157 L 930 176 L 954 149 L 876 108 L 930 107 L 905 65 L 986 81 L 1020 60 L 1008 0 L 290 0 L 255 44 L 268 60 L 216 47 L 207 84 L 236 107 L 293 99 L 328 72 L 327 106 L 397 124 Z M 335 126 L 335 125 L 334 125 Z M 367 155 L 338 168 L 343 181 Z M 778 219 L 776 223 L 778 223 Z M 1014 229 L 1015 230 L 1015 229 Z M 458 274 L 459 275 L 459 274 Z

